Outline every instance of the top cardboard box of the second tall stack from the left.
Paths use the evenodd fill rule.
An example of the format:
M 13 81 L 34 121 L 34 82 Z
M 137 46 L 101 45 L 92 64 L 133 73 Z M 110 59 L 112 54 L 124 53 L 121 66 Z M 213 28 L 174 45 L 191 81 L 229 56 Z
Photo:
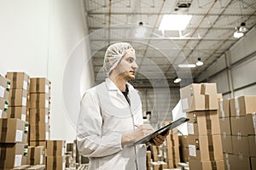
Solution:
M 31 78 L 30 79 L 30 93 L 45 93 L 50 94 L 51 83 L 47 78 Z

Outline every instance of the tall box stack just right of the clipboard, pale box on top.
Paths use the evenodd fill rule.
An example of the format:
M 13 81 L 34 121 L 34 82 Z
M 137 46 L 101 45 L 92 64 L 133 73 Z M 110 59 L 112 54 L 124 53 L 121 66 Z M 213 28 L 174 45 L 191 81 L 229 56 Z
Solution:
M 216 83 L 193 83 L 181 88 L 180 95 L 189 118 L 189 169 L 223 170 Z

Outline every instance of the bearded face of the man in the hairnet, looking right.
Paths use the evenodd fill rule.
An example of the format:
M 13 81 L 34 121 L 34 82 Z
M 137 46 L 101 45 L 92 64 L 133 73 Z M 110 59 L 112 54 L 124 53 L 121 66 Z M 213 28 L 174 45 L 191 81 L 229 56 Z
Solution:
M 136 69 L 136 56 L 133 49 L 128 50 L 125 56 L 120 60 L 119 64 L 115 67 L 118 75 L 124 77 L 125 80 L 134 79 Z

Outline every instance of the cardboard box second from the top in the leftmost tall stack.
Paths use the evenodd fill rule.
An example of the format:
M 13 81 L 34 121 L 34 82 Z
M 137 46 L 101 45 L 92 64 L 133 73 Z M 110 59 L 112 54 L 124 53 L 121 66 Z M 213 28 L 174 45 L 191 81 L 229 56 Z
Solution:
M 24 89 L 10 89 L 9 106 L 26 106 L 28 92 Z

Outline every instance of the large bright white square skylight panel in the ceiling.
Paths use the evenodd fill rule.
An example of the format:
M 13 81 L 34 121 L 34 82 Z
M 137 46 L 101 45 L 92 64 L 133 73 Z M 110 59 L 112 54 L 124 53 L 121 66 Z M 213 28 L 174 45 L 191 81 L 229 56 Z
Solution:
M 183 31 L 189 25 L 191 14 L 164 14 L 159 30 Z

